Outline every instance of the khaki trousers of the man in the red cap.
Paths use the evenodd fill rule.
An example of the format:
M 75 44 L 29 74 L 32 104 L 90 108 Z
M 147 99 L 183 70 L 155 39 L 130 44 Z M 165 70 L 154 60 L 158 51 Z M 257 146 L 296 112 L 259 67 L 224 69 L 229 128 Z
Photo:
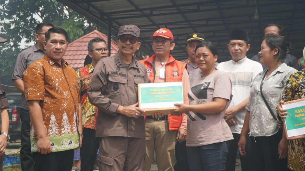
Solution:
M 159 171 L 174 171 L 175 144 L 178 131 L 168 130 L 168 120 L 146 119 L 146 171 L 150 170 L 156 151 Z

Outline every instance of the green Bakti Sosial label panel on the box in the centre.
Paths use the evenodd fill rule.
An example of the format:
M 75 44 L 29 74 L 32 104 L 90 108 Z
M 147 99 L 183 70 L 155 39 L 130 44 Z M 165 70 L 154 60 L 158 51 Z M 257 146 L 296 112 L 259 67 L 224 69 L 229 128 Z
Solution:
M 141 88 L 141 103 L 181 102 L 182 86 Z

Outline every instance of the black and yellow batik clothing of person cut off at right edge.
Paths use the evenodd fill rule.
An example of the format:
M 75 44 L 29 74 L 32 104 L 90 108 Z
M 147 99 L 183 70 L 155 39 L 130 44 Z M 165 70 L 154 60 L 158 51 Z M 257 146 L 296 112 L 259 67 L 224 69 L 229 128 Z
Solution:
M 305 98 L 305 71 L 292 74 L 284 87 L 282 100 L 284 102 Z M 305 138 L 289 141 L 288 168 L 305 170 Z

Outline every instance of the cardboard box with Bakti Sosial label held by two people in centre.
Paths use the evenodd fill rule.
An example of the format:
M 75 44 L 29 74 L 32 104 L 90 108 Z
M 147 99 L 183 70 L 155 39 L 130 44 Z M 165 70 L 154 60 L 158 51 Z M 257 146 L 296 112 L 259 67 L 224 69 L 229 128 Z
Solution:
M 182 82 L 138 84 L 139 108 L 145 110 L 144 115 L 159 112 L 165 115 L 178 109 L 175 103 L 183 103 Z

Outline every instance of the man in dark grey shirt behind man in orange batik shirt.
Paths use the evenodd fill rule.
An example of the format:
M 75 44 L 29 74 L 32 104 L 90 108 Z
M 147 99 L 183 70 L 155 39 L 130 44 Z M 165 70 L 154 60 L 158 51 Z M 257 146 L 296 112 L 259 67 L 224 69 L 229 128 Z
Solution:
M 33 62 L 41 59 L 45 54 L 45 48 L 43 47 L 43 41 L 45 41 L 45 32 L 49 28 L 53 27 L 49 23 L 40 23 L 36 26 L 36 44 L 26 50 L 20 52 L 17 57 L 15 69 L 13 73 L 13 84 L 21 92 L 21 109 L 20 109 L 20 119 L 21 119 L 21 170 L 32 171 L 34 169 L 34 159 L 31 153 L 30 145 L 30 113 L 25 101 L 24 88 L 23 88 L 23 72 L 27 69 L 29 65 Z

